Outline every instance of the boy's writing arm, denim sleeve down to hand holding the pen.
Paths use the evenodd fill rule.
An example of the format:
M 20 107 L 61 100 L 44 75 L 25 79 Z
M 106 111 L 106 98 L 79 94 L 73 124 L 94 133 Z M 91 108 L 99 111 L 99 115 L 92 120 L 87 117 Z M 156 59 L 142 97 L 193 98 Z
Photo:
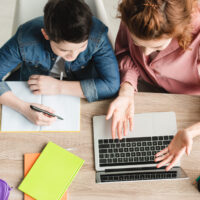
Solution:
M 6 82 L 2 81 L 5 75 L 16 68 L 21 62 L 21 52 L 18 44 L 17 33 L 0 49 L 0 104 L 6 105 L 17 112 L 23 114 L 26 118 L 38 125 L 50 125 L 55 119 L 33 112 L 30 109 L 30 103 L 17 98 L 10 90 Z M 37 105 L 43 109 L 53 112 L 50 108 Z

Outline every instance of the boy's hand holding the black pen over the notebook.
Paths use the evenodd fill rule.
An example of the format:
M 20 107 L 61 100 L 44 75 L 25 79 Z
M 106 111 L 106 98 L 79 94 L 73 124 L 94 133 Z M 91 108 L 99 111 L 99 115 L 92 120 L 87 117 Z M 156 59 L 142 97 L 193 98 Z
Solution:
M 36 124 L 38 126 L 50 126 L 53 122 L 55 122 L 56 117 L 49 116 L 42 112 L 34 111 L 30 108 L 30 105 L 36 106 L 36 107 L 46 110 L 50 113 L 54 113 L 54 110 L 52 110 L 51 108 L 46 107 L 44 105 L 35 104 L 35 103 L 33 103 L 33 104 L 26 103 L 22 114 L 28 120 L 30 120 L 31 122 L 33 122 L 34 124 Z

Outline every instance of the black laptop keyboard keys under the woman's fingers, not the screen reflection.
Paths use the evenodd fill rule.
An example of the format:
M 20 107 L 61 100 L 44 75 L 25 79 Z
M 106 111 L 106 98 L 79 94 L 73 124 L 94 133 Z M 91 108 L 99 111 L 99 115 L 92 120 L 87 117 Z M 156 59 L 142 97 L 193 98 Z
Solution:
M 100 167 L 155 164 L 155 154 L 169 145 L 173 135 L 101 139 L 99 143 Z

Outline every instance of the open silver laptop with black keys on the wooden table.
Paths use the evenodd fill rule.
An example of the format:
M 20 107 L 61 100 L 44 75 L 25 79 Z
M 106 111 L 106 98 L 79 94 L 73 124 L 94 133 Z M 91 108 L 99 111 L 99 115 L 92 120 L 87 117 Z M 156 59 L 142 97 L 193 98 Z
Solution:
M 155 154 L 177 133 L 174 112 L 134 115 L 134 129 L 122 140 L 112 139 L 111 120 L 93 117 L 96 182 L 186 179 L 177 163 L 170 171 L 156 168 Z

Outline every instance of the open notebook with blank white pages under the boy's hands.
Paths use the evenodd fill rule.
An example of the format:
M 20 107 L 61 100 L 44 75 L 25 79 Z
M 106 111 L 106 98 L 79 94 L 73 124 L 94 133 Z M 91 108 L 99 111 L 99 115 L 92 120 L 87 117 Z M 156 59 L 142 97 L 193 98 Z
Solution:
M 67 95 L 34 95 L 27 82 L 7 82 L 12 92 L 20 99 L 43 104 L 55 110 L 55 114 L 64 118 L 56 120 L 51 126 L 37 126 L 15 110 L 2 106 L 2 132 L 33 131 L 80 131 L 80 98 Z

